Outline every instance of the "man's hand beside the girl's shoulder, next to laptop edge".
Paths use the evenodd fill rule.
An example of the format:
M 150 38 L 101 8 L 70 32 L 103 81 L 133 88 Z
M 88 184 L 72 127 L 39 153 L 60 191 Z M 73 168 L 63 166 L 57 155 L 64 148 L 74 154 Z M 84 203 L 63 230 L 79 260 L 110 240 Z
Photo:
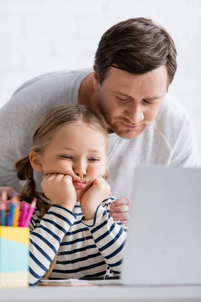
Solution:
M 128 225 L 130 202 L 131 200 L 125 197 L 110 204 L 110 215 L 114 220 L 120 220 L 126 226 Z

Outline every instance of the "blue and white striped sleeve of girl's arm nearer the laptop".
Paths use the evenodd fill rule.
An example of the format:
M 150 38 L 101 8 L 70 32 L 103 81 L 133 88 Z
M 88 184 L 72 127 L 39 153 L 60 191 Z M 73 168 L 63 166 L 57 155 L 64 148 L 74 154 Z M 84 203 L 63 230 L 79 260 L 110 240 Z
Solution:
M 113 275 L 121 273 L 124 245 L 127 237 L 126 226 L 121 221 L 114 221 L 109 214 L 110 204 L 115 200 L 113 197 L 102 202 L 97 207 L 95 217 L 84 220 L 82 223 L 88 226 L 95 245 L 105 258 Z

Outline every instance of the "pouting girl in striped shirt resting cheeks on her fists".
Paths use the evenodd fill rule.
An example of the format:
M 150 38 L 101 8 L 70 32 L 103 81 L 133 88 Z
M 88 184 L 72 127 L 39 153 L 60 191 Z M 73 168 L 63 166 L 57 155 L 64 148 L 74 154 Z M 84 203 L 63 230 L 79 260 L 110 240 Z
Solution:
M 30 285 L 41 278 L 82 278 L 121 272 L 126 227 L 109 215 L 108 133 L 79 105 L 50 109 L 39 122 L 29 156 L 15 163 L 27 180 L 22 198 L 37 207 L 30 228 Z M 37 191 L 34 170 L 43 174 Z

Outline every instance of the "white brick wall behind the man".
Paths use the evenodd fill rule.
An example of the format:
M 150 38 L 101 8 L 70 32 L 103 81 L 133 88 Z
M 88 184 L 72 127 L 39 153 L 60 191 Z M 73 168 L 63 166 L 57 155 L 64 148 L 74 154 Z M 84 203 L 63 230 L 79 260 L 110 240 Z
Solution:
M 170 92 L 191 115 L 201 150 L 201 1 L 0 0 L 0 107 L 30 78 L 93 64 L 115 23 L 152 18 L 171 34 L 178 69 Z

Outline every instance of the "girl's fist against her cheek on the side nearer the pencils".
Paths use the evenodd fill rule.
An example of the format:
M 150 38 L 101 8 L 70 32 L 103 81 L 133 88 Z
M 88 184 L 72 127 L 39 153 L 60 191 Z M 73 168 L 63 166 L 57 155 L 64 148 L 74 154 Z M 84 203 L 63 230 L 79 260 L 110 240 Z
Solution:
M 52 204 L 60 205 L 72 211 L 76 203 L 76 192 L 72 177 L 64 174 L 44 175 L 41 183 L 43 192 Z

